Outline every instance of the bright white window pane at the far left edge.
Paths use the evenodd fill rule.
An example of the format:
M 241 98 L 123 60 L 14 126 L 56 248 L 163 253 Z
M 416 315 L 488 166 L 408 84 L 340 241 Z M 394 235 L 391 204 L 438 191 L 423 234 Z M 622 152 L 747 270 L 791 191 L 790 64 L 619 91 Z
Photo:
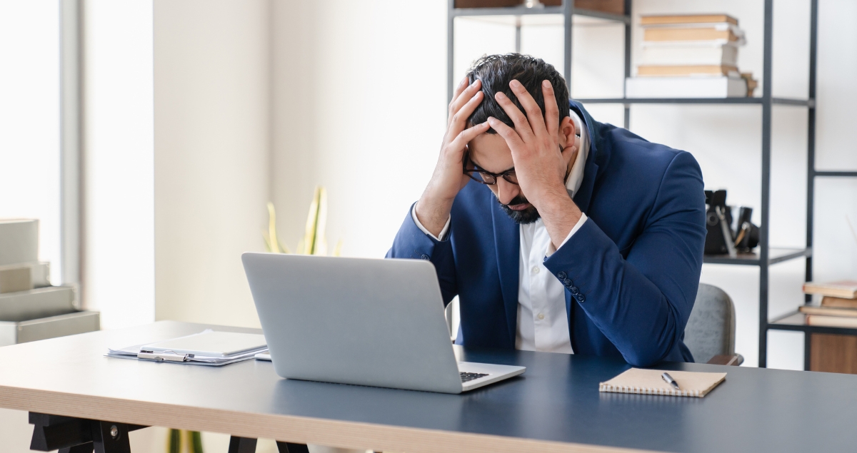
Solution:
M 0 218 L 39 219 L 60 283 L 59 4 L 0 2 Z

